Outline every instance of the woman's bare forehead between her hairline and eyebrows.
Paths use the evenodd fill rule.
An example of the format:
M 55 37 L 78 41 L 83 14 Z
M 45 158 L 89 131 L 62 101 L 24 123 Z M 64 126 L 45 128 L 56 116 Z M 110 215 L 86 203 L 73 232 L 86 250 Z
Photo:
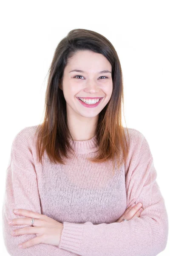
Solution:
M 69 72 L 70 68 L 77 70 L 88 70 L 101 71 L 104 69 L 111 70 L 111 64 L 107 58 L 96 52 L 90 50 L 78 51 L 73 57 L 68 59 L 68 64 L 65 69 Z

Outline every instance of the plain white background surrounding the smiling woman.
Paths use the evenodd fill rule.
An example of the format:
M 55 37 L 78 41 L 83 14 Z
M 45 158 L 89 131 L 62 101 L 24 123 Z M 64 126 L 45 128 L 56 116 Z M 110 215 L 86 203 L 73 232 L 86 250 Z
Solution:
M 170 218 L 170 1 L 3 1 L 0 4 L 0 204 L 15 135 L 42 122 L 46 76 L 59 41 L 94 30 L 122 65 L 125 121 L 146 137 Z M 123 118 L 123 123 L 124 118 Z M 1 214 L 1 213 L 0 213 Z M 166 249 L 159 255 L 167 256 Z M 3 256 L 8 255 L 0 233 Z

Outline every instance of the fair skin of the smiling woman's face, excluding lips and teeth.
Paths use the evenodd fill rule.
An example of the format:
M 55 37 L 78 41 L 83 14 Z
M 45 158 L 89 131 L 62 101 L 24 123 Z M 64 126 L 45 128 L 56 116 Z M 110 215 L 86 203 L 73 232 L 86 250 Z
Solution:
M 107 72 L 102 72 L 103 70 Z M 74 114 L 77 117 L 88 118 L 98 116 L 111 98 L 113 90 L 111 71 L 110 62 L 100 53 L 81 50 L 74 57 L 69 58 L 62 84 L 59 86 L 65 97 L 67 115 Z M 102 99 L 97 106 L 89 108 L 88 104 L 83 105 L 80 102 L 79 97 L 102 97 Z

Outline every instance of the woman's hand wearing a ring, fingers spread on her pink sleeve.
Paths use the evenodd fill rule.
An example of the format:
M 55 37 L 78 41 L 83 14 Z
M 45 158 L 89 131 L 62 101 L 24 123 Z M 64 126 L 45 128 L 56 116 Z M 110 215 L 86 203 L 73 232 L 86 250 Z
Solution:
M 27 218 L 15 218 L 10 225 L 30 225 L 30 227 L 23 227 L 21 229 L 14 230 L 13 236 L 20 236 L 25 234 L 36 234 L 37 237 L 26 241 L 20 248 L 27 248 L 34 244 L 51 244 L 59 245 L 63 224 L 55 221 L 54 219 L 25 209 L 18 209 L 14 212 L 17 215 L 26 216 Z M 34 224 L 32 226 L 31 220 L 34 218 Z M 8 223 L 9 224 L 9 223 Z

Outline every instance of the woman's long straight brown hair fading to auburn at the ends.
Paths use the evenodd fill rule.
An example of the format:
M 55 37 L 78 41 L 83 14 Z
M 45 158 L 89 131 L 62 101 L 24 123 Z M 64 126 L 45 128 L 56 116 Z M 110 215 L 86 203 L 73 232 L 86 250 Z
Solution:
M 67 125 L 66 102 L 63 91 L 59 88 L 64 68 L 79 50 L 91 50 L 104 55 L 112 66 L 113 91 L 111 99 L 99 113 L 96 128 L 96 145 L 98 154 L 88 158 L 91 162 L 105 162 L 118 160 L 118 167 L 127 159 L 128 145 L 125 129 L 122 126 L 122 103 L 124 111 L 122 69 L 116 50 L 107 38 L 97 32 L 87 29 L 73 29 L 63 38 L 52 59 L 48 70 L 48 84 L 45 93 L 45 117 L 38 125 L 37 151 L 40 163 L 46 151 L 53 163 L 65 164 L 62 157 L 68 158 L 67 152 L 74 153 L 68 139 L 73 140 Z M 127 127 L 126 127 L 127 130 Z M 128 130 L 127 130 L 128 134 Z M 129 134 L 128 134 L 129 138 Z M 122 162 L 121 150 L 123 153 Z M 116 158 L 115 158 L 116 157 Z

